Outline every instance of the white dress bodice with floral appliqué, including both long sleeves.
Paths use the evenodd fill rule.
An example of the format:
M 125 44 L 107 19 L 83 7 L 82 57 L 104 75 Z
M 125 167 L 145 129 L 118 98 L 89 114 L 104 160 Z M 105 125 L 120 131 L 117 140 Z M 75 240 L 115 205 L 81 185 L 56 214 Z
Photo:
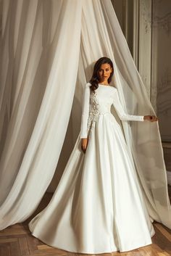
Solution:
M 90 89 L 91 83 L 86 83 L 83 96 L 83 109 L 81 118 L 80 138 L 87 138 L 88 129 L 98 120 L 99 115 L 111 113 L 111 106 L 114 105 L 117 115 L 123 121 L 143 121 L 143 115 L 128 115 L 122 108 L 117 88 L 99 84 L 93 92 Z

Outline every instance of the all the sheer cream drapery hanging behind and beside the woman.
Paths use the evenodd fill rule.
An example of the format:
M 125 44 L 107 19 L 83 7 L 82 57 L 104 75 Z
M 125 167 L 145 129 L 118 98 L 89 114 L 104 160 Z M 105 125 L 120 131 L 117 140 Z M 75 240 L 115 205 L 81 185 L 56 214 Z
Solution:
M 2 7 L 1 229 L 36 210 L 64 154 L 74 96 L 81 107 L 96 59 L 114 62 L 125 112 L 155 115 L 110 0 L 2 0 Z M 121 125 L 149 215 L 171 228 L 159 125 Z

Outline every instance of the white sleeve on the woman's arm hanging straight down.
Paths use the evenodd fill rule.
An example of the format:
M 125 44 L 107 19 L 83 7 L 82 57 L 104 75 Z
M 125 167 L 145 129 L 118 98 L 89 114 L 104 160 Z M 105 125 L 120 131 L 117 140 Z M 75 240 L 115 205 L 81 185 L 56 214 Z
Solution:
M 80 125 L 80 138 L 87 138 L 87 125 L 89 116 L 89 104 L 90 104 L 90 88 L 89 83 L 86 83 L 83 93 L 83 107 Z

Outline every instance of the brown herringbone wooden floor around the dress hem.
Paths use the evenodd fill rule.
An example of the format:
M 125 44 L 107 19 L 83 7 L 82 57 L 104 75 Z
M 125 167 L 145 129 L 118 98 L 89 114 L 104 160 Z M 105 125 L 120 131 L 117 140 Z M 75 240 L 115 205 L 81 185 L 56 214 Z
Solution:
M 171 199 L 171 186 L 169 187 L 169 194 Z M 45 207 L 49 200 L 51 199 L 51 194 L 46 193 L 43 197 L 38 210 L 34 213 L 36 215 L 40 212 L 43 207 Z M 171 201 L 171 200 L 170 200 Z M 87 254 L 78 254 L 73 252 L 66 252 L 62 249 L 54 249 L 49 247 L 43 242 L 31 236 L 28 229 L 28 222 L 33 218 L 31 216 L 24 223 L 18 223 L 9 228 L 0 231 L 0 256 L 79 256 Z M 100 256 L 170 256 L 171 255 L 171 230 L 166 228 L 160 223 L 154 223 L 154 229 L 156 234 L 153 236 L 153 244 L 146 247 L 141 247 L 139 249 L 134 249 L 130 252 L 113 252 L 100 254 Z M 88 255 L 93 256 L 93 255 Z

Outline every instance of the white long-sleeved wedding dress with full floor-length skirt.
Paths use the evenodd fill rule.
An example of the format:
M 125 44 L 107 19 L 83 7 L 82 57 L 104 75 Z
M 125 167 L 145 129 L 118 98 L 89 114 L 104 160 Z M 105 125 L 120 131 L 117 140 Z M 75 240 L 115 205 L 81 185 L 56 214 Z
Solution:
M 117 88 L 86 83 L 81 129 L 49 205 L 29 223 L 33 236 L 70 252 L 125 252 L 151 244 L 155 234 L 138 183 L 121 120 L 143 121 L 125 114 Z M 86 154 L 81 139 L 88 136 Z

